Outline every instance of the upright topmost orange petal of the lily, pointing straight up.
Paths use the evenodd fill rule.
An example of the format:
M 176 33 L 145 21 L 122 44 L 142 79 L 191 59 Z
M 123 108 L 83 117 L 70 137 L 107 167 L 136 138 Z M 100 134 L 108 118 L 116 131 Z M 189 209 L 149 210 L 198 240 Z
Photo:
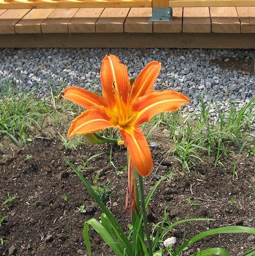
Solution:
M 131 90 L 128 70 L 126 65 L 120 63 L 117 56 L 105 56 L 100 71 L 100 79 L 102 83 L 103 96 L 108 100 L 108 103 L 112 108 L 115 105 L 115 97 L 112 92 L 113 83 L 116 88 L 116 97 L 122 97 L 122 100 L 125 103 L 127 102 L 128 91 Z

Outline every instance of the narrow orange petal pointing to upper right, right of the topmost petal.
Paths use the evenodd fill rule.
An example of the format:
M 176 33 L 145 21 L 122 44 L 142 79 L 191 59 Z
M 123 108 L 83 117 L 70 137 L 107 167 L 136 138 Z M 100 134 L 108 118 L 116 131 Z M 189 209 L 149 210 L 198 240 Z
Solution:
M 135 79 L 135 85 L 132 91 L 133 99 L 143 96 L 147 90 L 152 89 L 160 73 L 160 69 L 161 63 L 155 60 L 145 66 L 141 73 L 139 73 L 137 79 Z

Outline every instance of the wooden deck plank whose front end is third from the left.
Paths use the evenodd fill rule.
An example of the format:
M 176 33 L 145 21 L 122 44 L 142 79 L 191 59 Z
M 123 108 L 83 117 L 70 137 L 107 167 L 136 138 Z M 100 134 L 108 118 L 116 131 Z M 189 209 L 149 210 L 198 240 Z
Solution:
M 68 33 L 67 24 L 78 11 L 74 9 L 55 9 L 42 24 L 42 33 Z

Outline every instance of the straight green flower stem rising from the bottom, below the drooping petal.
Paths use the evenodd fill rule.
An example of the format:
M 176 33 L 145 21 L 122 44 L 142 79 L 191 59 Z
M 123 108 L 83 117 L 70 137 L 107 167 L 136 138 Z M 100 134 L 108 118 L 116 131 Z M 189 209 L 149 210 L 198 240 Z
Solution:
M 138 174 L 138 179 L 139 179 L 139 188 L 140 188 L 140 197 L 141 197 L 141 207 L 142 207 L 142 212 L 143 212 L 143 225 L 145 228 L 145 234 L 147 237 L 147 242 L 149 246 L 149 256 L 152 256 L 152 244 L 150 241 L 150 233 L 148 229 L 148 221 L 147 221 L 147 213 L 146 213 L 146 208 L 145 208 L 145 195 L 144 195 L 144 187 L 143 187 L 143 177 Z

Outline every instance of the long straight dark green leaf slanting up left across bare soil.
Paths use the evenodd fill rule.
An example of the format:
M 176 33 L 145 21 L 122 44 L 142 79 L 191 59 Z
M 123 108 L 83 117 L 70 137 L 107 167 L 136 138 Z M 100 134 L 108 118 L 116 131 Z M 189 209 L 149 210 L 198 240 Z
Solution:
M 65 161 L 69 164 L 69 166 L 72 168 L 72 170 L 78 175 L 84 186 L 88 189 L 89 193 L 93 198 L 96 200 L 96 202 L 99 204 L 103 212 L 106 214 L 107 218 L 112 224 L 112 227 L 114 227 L 114 233 L 118 233 L 120 237 L 120 243 L 126 246 L 126 250 L 129 255 L 131 255 L 131 243 L 124 234 L 123 230 L 121 229 L 120 225 L 112 215 L 112 213 L 107 209 L 105 204 L 102 202 L 102 200 L 99 198 L 99 196 L 93 191 L 93 188 L 89 185 L 88 181 L 83 177 L 83 175 L 74 167 L 74 165 L 67 159 L 65 158 Z M 84 224 L 85 225 L 85 224 Z M 86 242 L 85 242 L 86 243 Z M 87 246 L 88 242 L 86 243 Z

